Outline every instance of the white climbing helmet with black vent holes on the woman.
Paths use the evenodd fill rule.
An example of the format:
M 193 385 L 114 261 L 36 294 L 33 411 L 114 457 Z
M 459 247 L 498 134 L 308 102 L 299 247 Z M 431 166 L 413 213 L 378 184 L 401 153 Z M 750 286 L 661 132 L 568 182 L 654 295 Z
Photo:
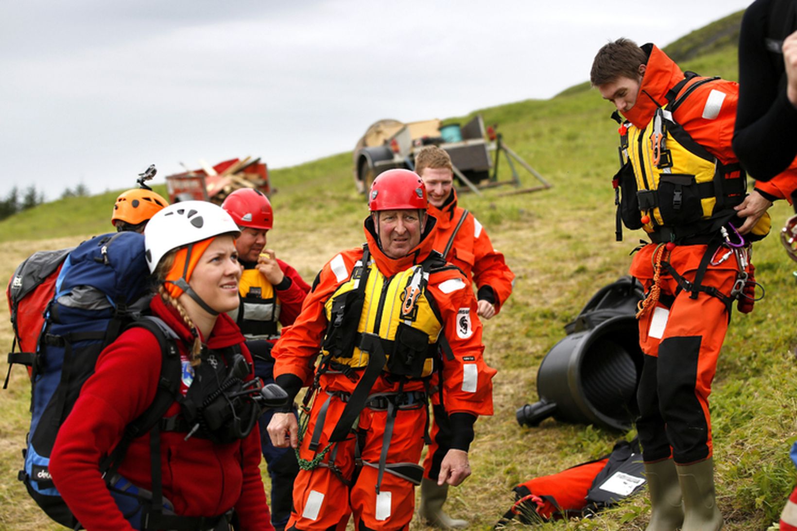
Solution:
M 219 234 L 238 237 L 241 230 L 222 207 L 206 201 L 181 201 L 159 210 L 144 229 L 144 248 L 150 273 L 172 249 Z

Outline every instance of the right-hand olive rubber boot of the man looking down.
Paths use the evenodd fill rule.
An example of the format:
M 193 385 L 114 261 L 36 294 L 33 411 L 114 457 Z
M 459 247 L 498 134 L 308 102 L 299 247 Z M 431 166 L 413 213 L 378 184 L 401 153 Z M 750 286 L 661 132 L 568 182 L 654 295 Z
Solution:
M 678 482 L 684 497 L 683 531 L 717 531 L 722 514 L 714 495 L 714 461 L 708 458 L 693 465 L 677 465 Z

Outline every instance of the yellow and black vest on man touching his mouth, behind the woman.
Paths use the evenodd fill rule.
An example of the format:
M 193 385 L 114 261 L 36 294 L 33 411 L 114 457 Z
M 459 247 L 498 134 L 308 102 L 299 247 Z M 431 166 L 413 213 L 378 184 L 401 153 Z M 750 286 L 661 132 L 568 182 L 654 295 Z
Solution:
M 241 333 L 249 338 L 275 338 L 280 320 L 280 299 L 271 282 L 257 269 L 244 269 L 238 283 L 241 304 L 232 316 Z

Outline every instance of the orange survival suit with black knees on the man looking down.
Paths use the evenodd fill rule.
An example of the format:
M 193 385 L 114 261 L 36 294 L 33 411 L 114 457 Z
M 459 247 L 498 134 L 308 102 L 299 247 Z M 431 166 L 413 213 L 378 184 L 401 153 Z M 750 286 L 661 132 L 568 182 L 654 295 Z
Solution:
M 690 464 L 712 455 L 711 383 L 728 328 L 733 290 L 739 287 L 740 270 L 749 270 L 748 247 L 734 252 L 719 226 L 734 242 L 738 240 L 728 225 L 745 188 L 744 173 L 731 148 L 738 85 L 720 79 L 701 82 L 705 78 L 700 77 L 689 77 L 678 85 L 685 80 L 681 69 L 656 46 L 642 49 L 649 53 L 649 60 L 636 103 L 623 112 L 627 121 L 621 126 L 621 135 L 627 135 L 621 147 L 633 166 L 636 183 L 646 187 L 654 175 L 659 183 L 658 191 L 637 195 L 644 214 L 642 225 L 653 243 L 643 246 L 630 266 L 630 273 L 649 293 L 646 304 L 650 306 L 639 317 L 645 357 L 637 427 L 646 462 L 672 456 L 678 464 Z M 677 106 L 667 107 L 678 99 Z M 665 164 L 669 154 L 656 152 L 663 148 L 650 134 L 650 128 L 655 129 L 654 116 L 661 116 L 657 114 L 660 108 L 672 111 L 675 123 L 667 133 L 673 149 L 669 170 Z M 686 136 L 677 131 L 678 124 Z M 693 165 L 703 168 L 704 175 L 708 172 L 709 179 L 711 175 L 721 179 L 715 176 L 709 183 L 696 185 L 697 173 L 684 175 L 677 169 L 677 157 L 686 151 L 703 152 Z M 707 198 L 717 187 L 723 192 Z M 668 216 L 675 221 L 668 222 Z M 766 234 L 766 230 L 760 232 Z M 660 277 L 654 282 L 656 269 Z

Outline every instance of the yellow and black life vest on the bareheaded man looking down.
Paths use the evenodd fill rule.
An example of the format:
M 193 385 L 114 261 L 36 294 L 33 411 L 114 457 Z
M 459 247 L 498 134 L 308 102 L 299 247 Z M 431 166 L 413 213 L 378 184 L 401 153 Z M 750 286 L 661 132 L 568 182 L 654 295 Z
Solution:
M 720 163 L 673 119 L 694 88 L 717 79 L 701 78 L 686 86 L 693 77 L 688 75 L 669 92 L 669 103 L 656 109 L 645 128 L 628 121 L 620 126 L 623 167 L 615 187 L 622 187 L 623 198 L 618 204 L 618 239 L 620 209 L 629 228 L 678 241 L 716 232 L 735 216 L 733 207 L 744 199 L 747 179 L 740 164 Z

